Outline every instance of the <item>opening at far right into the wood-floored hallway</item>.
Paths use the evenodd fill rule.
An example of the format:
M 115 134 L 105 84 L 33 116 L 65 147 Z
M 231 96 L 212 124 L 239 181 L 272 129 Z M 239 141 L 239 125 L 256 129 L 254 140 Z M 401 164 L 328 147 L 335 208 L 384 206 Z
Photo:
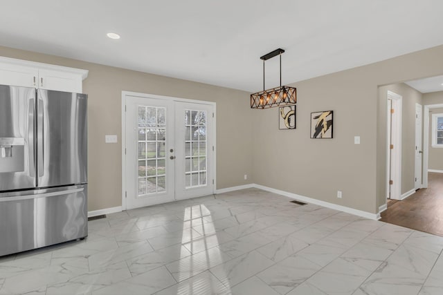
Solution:
M 442 82 L 443 76 L 439 76 L 382 86 L 385 87 L 383 90 L 393 90 L 404 99 L 401 193 L 397 200 L 392 198 L 391 191 L 391 198 L 387 198 L 384 208 L 379 209 L 381 221 L 438 236 L 443 236 L 443 149 L 434 142 L 441 135 L 443 148 Z M 387 104 L 395 104 L 395 100 L 390 99 Z M 438 133 L 439 127 L 434 121 L 440 116 Z M 388 117 L 388 133 L 389 129 Z M 390 144 L 389 139 L 387 142 Z M 387 166 L 392 164 L 389 156 L 390 153 L 387 154 Z M 388 195 L 388 188 L 386 191 Z

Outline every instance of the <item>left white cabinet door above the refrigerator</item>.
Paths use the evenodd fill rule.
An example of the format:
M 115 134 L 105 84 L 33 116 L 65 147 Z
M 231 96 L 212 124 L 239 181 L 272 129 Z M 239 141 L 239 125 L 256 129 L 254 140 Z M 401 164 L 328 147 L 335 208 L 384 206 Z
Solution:
M 0 84 L 37 87 L 38 70 L 27 66 L 0 63 Z

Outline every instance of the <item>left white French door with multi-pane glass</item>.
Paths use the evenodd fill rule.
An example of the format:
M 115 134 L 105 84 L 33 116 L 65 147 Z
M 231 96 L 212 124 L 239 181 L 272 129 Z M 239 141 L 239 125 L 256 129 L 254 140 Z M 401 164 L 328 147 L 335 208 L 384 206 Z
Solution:
M 163 99 L 126 97 L 126 209 L 174 200 L 172 108 Z

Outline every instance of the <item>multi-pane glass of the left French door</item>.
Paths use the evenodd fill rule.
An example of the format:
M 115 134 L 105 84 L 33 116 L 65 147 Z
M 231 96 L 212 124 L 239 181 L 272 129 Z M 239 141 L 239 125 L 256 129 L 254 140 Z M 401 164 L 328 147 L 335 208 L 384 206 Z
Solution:
M 164 107 L 138 106 L 138 196 L 166 189 L 165 117 Z

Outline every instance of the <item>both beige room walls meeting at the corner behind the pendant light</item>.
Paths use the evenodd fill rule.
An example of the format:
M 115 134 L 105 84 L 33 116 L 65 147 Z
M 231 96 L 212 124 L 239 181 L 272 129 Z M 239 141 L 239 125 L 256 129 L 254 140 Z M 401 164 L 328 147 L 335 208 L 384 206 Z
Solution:
M 217 102 L 217 187 L 255 182 L 377 213 L 386 202 L 386 124 L 378 86 L 443 74 L 443 46 L 308 79 L 298 89 L 297 129 L 278 130 L 278 109 L 249 109 L 249 93 L 0 47 L 0 55 L 89 70 L 89 210 L 121 204 L 121 91 Z M 235 69 L 233 69 L 235 70 Z M 309 138 L 310 113 L 334 111 L 334 139 Z M 354 135 L 361 144 L 354 145 Z M 113 160 L 109 160 L 113 159 Z M 252 177 L 247 181 L 243 175 Z M 343 198 L 336 198 L 336 191 Z

